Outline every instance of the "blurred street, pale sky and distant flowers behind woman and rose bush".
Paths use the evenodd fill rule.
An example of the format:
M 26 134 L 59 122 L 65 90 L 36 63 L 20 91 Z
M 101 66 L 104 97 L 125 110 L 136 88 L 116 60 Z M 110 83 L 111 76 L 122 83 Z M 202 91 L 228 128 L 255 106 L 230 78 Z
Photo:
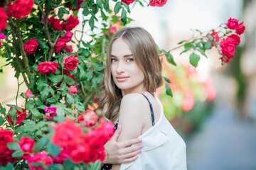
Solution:
M 228 18 L 244 21 L 245 34 L 229 64 L 217 50 L 201 57 L 195 69 L 189 55 L 174 50 L 178 66 L 163 62 L 174 97 L 157 91 L 166 117 L 187 145 L 188 170 L 256 169 L 256 0 L 168 0 L 161 8 L 130 6 L 134 21 L 168 51 L 188 40 L 195 29 L 208 31 Z M 0 58 L 1 66 L 4 60 Z M 0 74 L 0 103 L 16 103 L 18 84 L 11 67 Z M 18 91 L 26 91 L 20 86 Z

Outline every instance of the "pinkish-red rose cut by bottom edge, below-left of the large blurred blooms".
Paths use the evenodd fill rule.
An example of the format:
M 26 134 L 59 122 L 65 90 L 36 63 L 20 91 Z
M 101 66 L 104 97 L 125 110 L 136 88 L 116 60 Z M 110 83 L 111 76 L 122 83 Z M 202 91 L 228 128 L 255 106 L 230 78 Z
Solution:
M 47 156 L 46 151 L 38 152 L 28 159 L 28 167 L 31 170 L 43 169 L 41 166 L 33 166 L 33 163 L 42 163 L 44 166 L 53 164 L 53 159 Z

